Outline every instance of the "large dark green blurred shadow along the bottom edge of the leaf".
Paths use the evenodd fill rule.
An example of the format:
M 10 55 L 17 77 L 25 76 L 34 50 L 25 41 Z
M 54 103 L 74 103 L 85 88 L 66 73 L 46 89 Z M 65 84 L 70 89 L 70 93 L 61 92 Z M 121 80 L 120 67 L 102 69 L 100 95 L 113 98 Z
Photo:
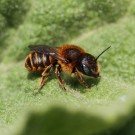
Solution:
M 101 118 L 56 106 L 43 113 L 31 113 L 18 135 L 90 135 L 108 127 Z

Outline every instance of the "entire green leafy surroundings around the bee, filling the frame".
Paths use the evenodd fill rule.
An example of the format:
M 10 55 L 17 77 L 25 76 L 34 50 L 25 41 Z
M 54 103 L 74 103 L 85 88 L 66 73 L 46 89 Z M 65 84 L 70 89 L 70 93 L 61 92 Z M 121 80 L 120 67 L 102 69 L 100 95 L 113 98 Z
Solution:
M 91 89 L 63 75 L 28 73 L 30 44 L 76 44 L 100 59 L 101 80 Z M 0 134 L 135 134 L 134 0 L 0 0 Z

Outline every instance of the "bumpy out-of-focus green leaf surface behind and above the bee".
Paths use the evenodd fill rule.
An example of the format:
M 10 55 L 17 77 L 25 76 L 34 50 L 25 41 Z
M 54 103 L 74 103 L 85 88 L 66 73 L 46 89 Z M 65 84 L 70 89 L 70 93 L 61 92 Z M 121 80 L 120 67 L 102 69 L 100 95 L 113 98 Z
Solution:
M 114 22 L 126 13 L 128 1 L 0 0 L 0 14 L 7 22 L 2 60 L 23 60 L 30 44 L 55 46 L 79 35 L 86 27 L 93 29 Z

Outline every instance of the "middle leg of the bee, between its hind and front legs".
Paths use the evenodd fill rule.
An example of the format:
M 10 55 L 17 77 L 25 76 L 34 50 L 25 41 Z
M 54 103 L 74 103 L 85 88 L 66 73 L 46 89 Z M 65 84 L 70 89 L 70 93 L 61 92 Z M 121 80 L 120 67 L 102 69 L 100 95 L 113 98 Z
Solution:
M 64 86 L 63 80 L 62 80 L 62 78 L 60 76 L 60 72 L 61 72 L 60 65 L 56 65 L 56 67 L 55 67 L 56 77 L 58 78 L 58 82 L 62 86 L 63 90 L 66 91 L 66 88 Z

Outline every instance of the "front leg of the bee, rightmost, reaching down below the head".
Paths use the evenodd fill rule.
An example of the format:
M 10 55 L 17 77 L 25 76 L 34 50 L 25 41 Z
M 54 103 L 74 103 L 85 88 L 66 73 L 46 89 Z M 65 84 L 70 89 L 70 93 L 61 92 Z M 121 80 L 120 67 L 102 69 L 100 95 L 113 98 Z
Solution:
M 82 75 L 78 71 L 75 70 L 74 72 L 72 72 L 72 74 L 74 74 L 78 78 L 79 82 L 83 86 L 85 86 L 86 88 L 90 88 L 90 86 L 85 82 L 85 80 L 83 79 Z

